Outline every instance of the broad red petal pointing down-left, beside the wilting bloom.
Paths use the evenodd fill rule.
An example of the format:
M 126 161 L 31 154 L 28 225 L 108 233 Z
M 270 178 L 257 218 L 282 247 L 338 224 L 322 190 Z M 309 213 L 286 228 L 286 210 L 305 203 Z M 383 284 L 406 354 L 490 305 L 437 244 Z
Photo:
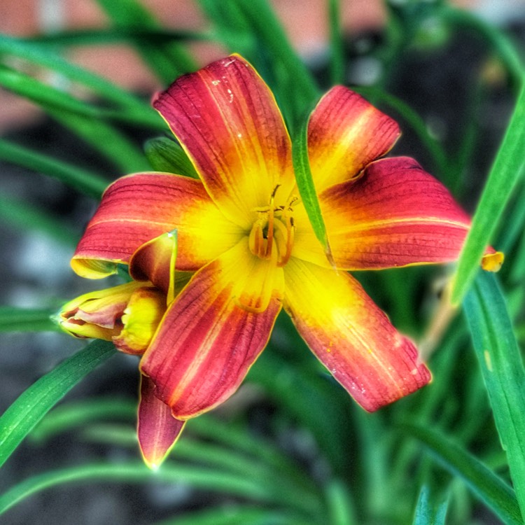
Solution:
M 156 395 L 178 419 L 225 401 L 267 344 L 281 309 L 283 270 L 248 239 L 193 276 L 141 360 Z

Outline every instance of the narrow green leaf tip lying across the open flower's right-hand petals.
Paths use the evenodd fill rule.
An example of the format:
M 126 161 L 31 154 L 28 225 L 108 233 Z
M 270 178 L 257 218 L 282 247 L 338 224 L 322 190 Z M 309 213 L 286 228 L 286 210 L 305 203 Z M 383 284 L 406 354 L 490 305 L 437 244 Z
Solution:
M 308 120 L 304 120 L 300 131 L 295 136 L 292 146 L 293 169 L 295 170 L 295 181 L 302 199 L 302 204 L 307 211 L 311 227 L 323 249 L 326 257 L 333 265 L 332 252 L 328 244 L 328 235 L 326 235 L 325 223 L 321 206 L 317 198 L 317 192 L 314 185 L 314 179 L 311 176 L 310 162 L 308 158 Z

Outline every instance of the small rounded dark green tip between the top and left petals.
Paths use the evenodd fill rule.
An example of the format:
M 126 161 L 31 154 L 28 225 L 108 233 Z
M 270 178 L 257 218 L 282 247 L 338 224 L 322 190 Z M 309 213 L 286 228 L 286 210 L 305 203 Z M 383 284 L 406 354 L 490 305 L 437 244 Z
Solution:
M 150 139 L 144 144 L 144 151 L 151 166 L 157 172 L 186 175 L 198 179 L 193 163 L 179 144 L 167 137 Z

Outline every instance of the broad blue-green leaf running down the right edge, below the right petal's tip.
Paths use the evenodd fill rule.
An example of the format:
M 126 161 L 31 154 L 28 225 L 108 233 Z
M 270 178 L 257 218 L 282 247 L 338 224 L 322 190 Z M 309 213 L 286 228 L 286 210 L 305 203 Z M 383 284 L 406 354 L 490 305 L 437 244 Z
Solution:
M 496 277 L 480 274 L 463 309 L 525 516 L 525 370 Z

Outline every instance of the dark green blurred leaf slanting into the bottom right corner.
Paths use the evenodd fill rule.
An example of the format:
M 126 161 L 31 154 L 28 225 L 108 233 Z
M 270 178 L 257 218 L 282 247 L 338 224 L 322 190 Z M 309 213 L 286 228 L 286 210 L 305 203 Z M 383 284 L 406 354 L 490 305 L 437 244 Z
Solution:
M 472 454 L 431 428 L 412 424 L 403 424 L 401 428 L 425 444 L 451 474 L 461 477 L 479 500 L 505 524 L 523 525 L 514 491 Z

